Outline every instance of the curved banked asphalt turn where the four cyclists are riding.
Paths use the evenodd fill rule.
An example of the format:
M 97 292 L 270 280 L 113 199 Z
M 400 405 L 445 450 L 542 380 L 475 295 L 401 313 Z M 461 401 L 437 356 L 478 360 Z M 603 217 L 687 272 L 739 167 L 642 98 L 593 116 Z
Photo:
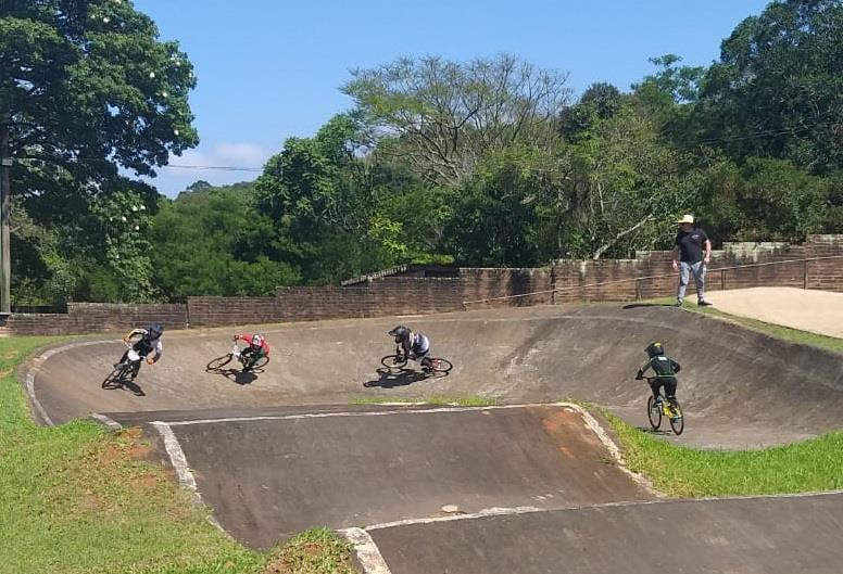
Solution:
M 398 322 L 430 335 L 433 354 L 454 362 L 449 377 L 421 380 L 413 370 L 395 375 L 380 369 L 392 350 L 386 333 Z M 100 388 L 119 343 L 65 346 L 34 370 L 34 397 L 53 423 L 91 411 L 342 405 L 439 394 L 505 403 L 576 398 L 645 425 L 649 391 L 633 377 L 644 346 L 658 339 L 683 367 L 684 444 L 757 447 L 843 426 L 843 356 L 668 307 L 532 307 L 276 326 L 262 330 L 273 345 L 263 372 L 206 372 L 206 363 L 230 348 L 232 331 L 167 333 L 164 358 L 141 369 L 140 394 Z

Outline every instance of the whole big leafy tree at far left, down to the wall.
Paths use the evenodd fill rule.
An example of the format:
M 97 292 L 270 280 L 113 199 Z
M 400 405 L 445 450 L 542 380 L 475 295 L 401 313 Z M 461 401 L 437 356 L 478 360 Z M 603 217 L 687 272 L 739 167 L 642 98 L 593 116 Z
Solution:
M 171 153 L 198 142 L 192 66 L 158 35 L 128 1 L 0 3 L 0 123 L 20 200 L 13 217 L 32 224 L 13 229 L 13 248 L 27 251 L 13 254 L 13 277 L 35 273 L 13 279 L 26 285 L 23 298 L 153 296 L 148 245 L 108 243 L 97 209 L 124 192 L 154 206 L 154 191 L 122 174 L 154 176 Z M 26 233 L 35 229 L 33 241 Z

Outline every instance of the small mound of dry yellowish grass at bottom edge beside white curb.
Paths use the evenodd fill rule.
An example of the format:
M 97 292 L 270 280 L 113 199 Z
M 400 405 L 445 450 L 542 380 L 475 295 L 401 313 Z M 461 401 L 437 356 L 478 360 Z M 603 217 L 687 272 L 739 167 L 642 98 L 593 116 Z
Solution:
M 351 544 L 328 528 L 312 528 L 288 541 L 264 574 L 356 574 Z

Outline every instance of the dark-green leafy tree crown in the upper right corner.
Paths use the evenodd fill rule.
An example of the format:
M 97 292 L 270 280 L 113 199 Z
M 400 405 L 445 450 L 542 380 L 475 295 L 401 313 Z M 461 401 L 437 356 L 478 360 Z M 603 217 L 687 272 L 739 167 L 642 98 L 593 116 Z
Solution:
M 843 167 L 843 4 L 779 0 L 744 20 L 706 75 L 699 123 L 735 158 Z

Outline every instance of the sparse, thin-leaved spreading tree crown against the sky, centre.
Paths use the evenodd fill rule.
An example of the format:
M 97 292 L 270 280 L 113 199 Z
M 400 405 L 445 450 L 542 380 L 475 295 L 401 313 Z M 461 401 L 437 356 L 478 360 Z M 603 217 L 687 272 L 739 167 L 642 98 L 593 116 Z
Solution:
M 455 184 L 489 151 L 549 146 L 568 102 L 567 76 L 511 55 L 458 63 L 406 58 L 353 72 L 343 87 L 380 130 L 381 146 L 429 180 Z

